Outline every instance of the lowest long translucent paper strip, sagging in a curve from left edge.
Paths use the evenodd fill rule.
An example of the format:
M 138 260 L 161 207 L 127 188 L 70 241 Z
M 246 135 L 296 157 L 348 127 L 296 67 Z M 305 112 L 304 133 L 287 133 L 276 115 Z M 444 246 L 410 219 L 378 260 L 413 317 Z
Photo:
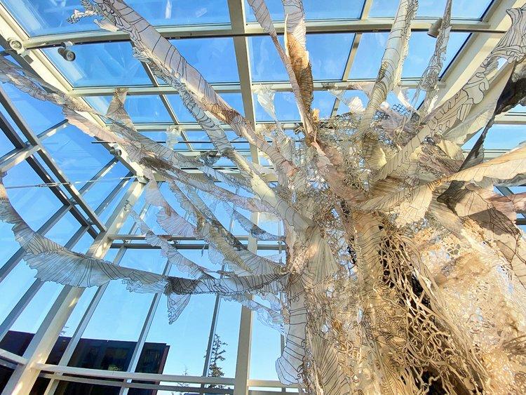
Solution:
M 136 292 L 220 295 L 250 291 L 277 293 L 283 290 L 283 282 L 286 281 L 286 276 L 276 274 L 241 276 L 236 279 L 214 279 L 211 276 L 206 279 L 182 279 L 118 267 L 104 260 L 74 253 L 33 232 L 11 206 L 4 185 L 0 185 L 0 217 L 3 222 L 13 224 L 15 238 L 26 251 L 24 259 L 29 267 L 38 271 L 37 276 L 42 281 L 85 288 L 122 279 Z

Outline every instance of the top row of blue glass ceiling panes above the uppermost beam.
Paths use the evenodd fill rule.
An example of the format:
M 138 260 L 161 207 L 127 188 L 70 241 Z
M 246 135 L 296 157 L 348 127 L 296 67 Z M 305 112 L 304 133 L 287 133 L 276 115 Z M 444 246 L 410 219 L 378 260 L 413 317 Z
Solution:
M 128 0 L 137 13 L 154 26 L 180 26 L 229 24 L 227 0 Z M 304 0 L 306 20 L 359 19 L 365 0 L 325 0 L 320 7 L 318 0 Z M 492 0 L 455 0 L 452 18 L 480 20 Z M 67 18 L 79 7 L 79 0 L 2 0 L 13 17 L 29 36 L 58 34 L 64 32 L 86 32 L 101 30 L 90 20 L 69 24 Z M 271 17 L 283 20 L 281 0 L 268 0 Z M 392 18 L 398 1 L 373 0 L 369 18 Z M 421 0 L 417 15 L 420 18 L 437 18 L 443 14 L 445 0 Z M 245 18 L 255 22 L 255 17 L 245 0 Z

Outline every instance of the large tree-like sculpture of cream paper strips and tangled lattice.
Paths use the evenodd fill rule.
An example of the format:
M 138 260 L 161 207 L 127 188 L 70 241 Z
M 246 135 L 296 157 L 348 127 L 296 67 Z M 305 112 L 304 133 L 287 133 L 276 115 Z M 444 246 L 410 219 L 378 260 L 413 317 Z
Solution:
M 311 108 L 301 0 L 283 0 L 284 46 L 264 1 L 248 0 L 287 70 L 301 116 L 295 141 L 277 119 L 264 132 L 256 130 L 122 0 L 81 3 L 85 10 L 76 11 L 72 22 L 99 18 L 98 25 L 129 34 L 135 57 L 177 90 L 213 152 L 184 156 L 138 133 L 123 107 L 126 91 L 117 90 L 108 112 L 97 114 L 6 59 L 0 60 L 0 78 L 62 106 L 69 123 L 88 135 L 119 145 L 142 170 L 147 203 L 160 208 L 159 225 L 167 234 L 204 239 L 218 270 L 182 257 L 135 213 L 147 243 L 159 246 L 187 278 L 72 253 L 33 232 L 2 188 L 1 217 L 13 224 L 39 279 L 76 287 L 122 279 L 135 292 L 166 293 L 170 320 L 193 294 L 237 300 L 282 330 L 278 376 L 309 394 L 526 393 L 526 248 L 515 226 L 526 194 L 494 192 L 494 185 L 525 182 L 526 147 L 483 157 L 494 116 L 525 97 L 526 7 L 508 11 L 509 31 L 460 91 L 440 101 L 438 77 L 451 29 L 448 0 L 429 67 L 410 100 L 400 74 L 417 0 L 400 1 L 376 81 L 349 85 L 367 102 L 328 86 L 349 112 L 320 119 Z M 390 92 L 403 105 L 389 107 Z M 269 89 L 257 90 L 257 100 L 276 118 L 273 99 Z M 107 126 L 84 113 L 102 116 Z M 238 154 L 225 127 L 264 153 L 272 168 Z M 480 129 L 464 158 L 461 146 Z M 238 176 L 214 167 L 219 157 L 234 163 Z M 277 182 L 267 181 L 269 173 Z M 187 215 L 170 206 L 156 180 L 169 185 Z M 238 208 L 277 217 L 285 262 L 248 250 L 217 219 L 210 199 L 224 204 L 258 240 L 283 238 Z M 269 304 L 252 300 L 256 294 Z

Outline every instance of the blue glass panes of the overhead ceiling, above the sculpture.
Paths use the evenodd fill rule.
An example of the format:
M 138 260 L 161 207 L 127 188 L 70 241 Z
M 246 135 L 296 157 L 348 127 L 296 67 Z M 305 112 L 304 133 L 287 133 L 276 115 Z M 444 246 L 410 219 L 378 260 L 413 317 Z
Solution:
M 78 6 L 76 1 L 67 0 L 57 4 L 51 0 L 2 0 L 1 3 L 6 6 L 29 36 L 83 32 L 87 29 L 95 31 L 97 25 L 88 20 L 81 20 L 73 25 L 65 22 L 65 18 Z M 445 1 L 439 3 L 421 1 L 419 16 L 432 18 L 440 15 Z M 272 0 L 268 1 L 268 4 L 273 17 L 276 20 L 283 20 L 281 1 Z M 395 4 L 396 1 L 372 1 L 369 18 L 392 18 L 396 9 Z M 130 1 L 130 5 L 157 26 L 208 24 L 222 26 L 230 23 L 226 0 L 198 2 L 149 0 Z M 489 1 L 455 2 L 454 18 L 480 20 L 489 5 Z M 364 9 L 363 1 L 330 0 L 322 9 L 318 6 L 317 1 L 309 0 L 304 1 L 304 6 L 307 20 L 312 21 L 356 20 L 361 17 Z M 245 16 L 248 23 L 254 24 L 254 17 L 248 4 L 245 4 Z M 189 27 L 189 29 L 193 28 Z M 198 31 L 198 27 L 195 29 Z M 326 83 L 328 81 L 375 79 L 387 36 L 388 32 L 308 34 L 307 49 L 310 53 L 314 80 Z M 469 32 L 452 32 L 443 70 L 447 69 L 454 60 L 469 36 Z M 283 42 L 282 36 L 280 40 Z M 353 61 L 349 64 L 351 48 L 356 40 L 359 40 L 359 43 L 353 49 Z M 103 42 L 74 45 L 72 48 L 76 54 L 74 62 L 64 60 L 53 47 L 45 47 L 41 51 L 46 55 L 50 64 L 65 77 L 73 90 L 85 95 L 86 101 L 99 112 L 105 112 L 107 109 L 112 88 L 116 86 L 142 87 L 136 91 L 137 94 L 134 91 L 128 94 L 126 109 L 133 121 L 140 124 L 139 128 L 144 133 L 159 133 L 159 139 L 163 140 L 162 129 L 166 124 L 195 124 L 191 114 L 184 108 L 176 94 L 156 95 L 153 93 L 157 86 L 162 88 L 165 84 L 151 76 L 151 73 L 149 74 L 148 70 L 133 58 L 132 48 L 128 41 L 104 42 L 104 39 L 101 41 Z M 245 113 L 241 94 L 243 87 L 239 79 L 234 40 L 231 37 L 174 39 L 172 43 L 208 81 L 218 87 L 224 86 L 226 91 L 222 93 L 225 100 L 242 114 Z M 403 69 L 403 79 L 415 80 L 422 74 L 433 52 L 433 43 L 434 39 L 426 32 L 412 34 L 409 55 Z M 299 121 L 299 113 L 290 88 L 286 88 L 287 74 L 269 37 L 265 35 L 248 36 L 247 45 L 252 85 L 285 83 L 285 91 L 276 93 L 278 117 L 287 122 Z M 252 98 L 252 103 L 255 121 L 271 121 L 255 97 Z M 335 111 L 338 113 L 344 111 L 339 108 L 334 96 L 323 91 L 316 91 L 313 105 L 320 109 L 321 116 L 330 116 Z M 158 128 L 155 127 L 156 124 Z M 202 136 L 198 136 L 193 140 L 201 141 L 201 138 Z M 177 149 L 180 147 L 194 149 L 191 144 L 180 145 Z M 202 144 L 200 149 L 203 149 Z

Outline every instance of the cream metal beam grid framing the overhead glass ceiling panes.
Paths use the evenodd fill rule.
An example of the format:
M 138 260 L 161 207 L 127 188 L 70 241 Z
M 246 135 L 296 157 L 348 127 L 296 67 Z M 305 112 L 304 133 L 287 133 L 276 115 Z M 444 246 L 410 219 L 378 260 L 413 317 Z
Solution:
M 232 39 L 234 39 L 238 70 L 245 70 L 247 69 L 247 67 L 250 67 L 250 64 L 246 65 L 246 62 L 243 61 L 243 58 L 245 58 L 244 53 L 248 53 L 249 48 L 246 45 L 246 39 L 241 38 L 260 35 L 266 36 L 266 34 L 262 32 L 262 29 L 261 27 L 259 27 L 259 24 L 257 24 L 257 22 L 247 22 L 245 15 L 247 15 L 247 13 L 250 13 L 250 11 L 246 9 L 246 4 L 236 3 L 237 2 L 229 1 L 230 23 L 228 24 L 228 26 L 224 23 L 187 26 L 161 26 L 159 27 L 159 31 L 162 32 L 164 36 L 173 38 L 191 37 L 193 39 L 199 39 L 203 37 L 210 38 L 214 36 L 229 36 Z M 233 6 L 234 4 L 236 4 L 235 7 Z M 346 20 L 336 18 L 331 20 L 307 20 L 307 32 L 309 34 L 320 34 L 324 32 L 353 32 L 354 34 L 351 43 L 351 48 L 349 50 L 349 55 L 346 56 L 347 60 L 344 65 L 344 70 L 341 79 L 339 78 L 335 80 L 316 81 L 316 90 L 326 89 L 326 85 L 328 83 L 337 83 L 338 85 L 341 83 L 342 86 L 345 86 L 347 82 L 351 81 L 349 80 L 349 72 L 353 65 L 353 61 L 356 58 L 356 51 L 358 50 L 361 35 L 364 34 L 364 32 L 389 31 L 392 18 L 368 18 L 372 5 L 373 1 L 363 1 L 363 6 L 359 18 Z M 487 13 L 487 10 L 484 10 L 484 14 L 485 13 Z M 431 25 L 432 21 L 433 18 L 417 19 L 413 24 L 413 30 L 417 32 L 425 31 L 429 27 L 429 25 Z M 471 20 L 458 19 L 453 20 L 452 22 L 453 31 L 490 31 L 488 30 L 488 24 L 483 20 L 480 20 L 480 18 L 473 18 Z M 278 28 L 278 31 L 283 30 L 283 22 L 276 22 L 276 26 Z M 18 27 L 22 29 L 20 25 Z M 51 34 L 47 36 L 27 36 L 24 45 L 25 48 L 39 48 L 41 50 L 45 50 L 46 48 L 53 48 L 53 46 L 57 46 L 59 43 L 62 43 L 69 39 L 71 39 L 75 43 L 75 46 L 79 46 L 83 43 L 90 42 L 101 43 L 109 41 L 126 41 L 126 37 L 122 36 L 122 34 L 119 35 L 119 32 L 72 32 L 62 34 Z M 248 56 L 250 57 L 250 55 Z M 56 67 L 56 65 L 53 65 L 51 67 Z M 149 92 L 159 93 L 159 98 L 163 102 L 163 105 L 166 109 L 166 113 L 170 117 L 171 121 L 173 121 L 173 123 L 176 125 L 180 124 L 180 121 L 177 119 L 177 114 L 175 114 L 174 112 L 173 106 L 170 105 L 170 102 L 166 98 L 166 93 L 175 92 L 173 88 L 169 86 L 163 86 L 163 84 L 159 83 L 159 81 L 156 81 L 155 77 L 151 74 L 151 71 L 149 70 L 149 67 L 147 65 L 142 64 L 142 68 L 146 72 L 149 80 L 151 81 L 151 86 L 126 86 L 127 88 L 129 88 L 128 95 L 142 95 L 147 94 Z M 58 73 L 60 74 L 60 72 Z M 246 78 L 245 76 L 245 78 L 243 78 L 243 81 L 240 75 L 239 81 L 239 83 L 213 83 L 213 86 L 217 88 L 217 91 L 219 93 L 241 92 L 243 98 L 243 107 L 245 107 L 245 116 L 247 116 L 248 119 L 250 119 L 254 123 L 257 123 L 255 116 L 252 116 L 252 114 L 254 113 L 255 103 L 251 94 L 249 97 L 248 91 L 252 91 L 252 88 L 255 85 L 259 84 L 269 85 L 276 91 L 290 91 L 290 83 L 286 82 L 262 81 L 255 83 L 252 81 L 250 72 L 248 78 Z M 417 83 L 416 79 L 403 79 L 403 82 L 407 84 L 407 86 L 413 86 Z M 71 87 L 70 90 L 75 95 L 81 96 L 91 96 L 95 95 L 96 93 L 102 95 L 111 95 L 115 87 L 116 86 Z M 337 114 L 338 107 L 339 100 L 335 99 L 330 115 Z M 182 140 L 183 142 L 189 141 L 187 133 L 182 133 Z M 191 146 L 191 143 L 186 143 L 185 145 L 189 150 L 194 150 L 194 147 Z

